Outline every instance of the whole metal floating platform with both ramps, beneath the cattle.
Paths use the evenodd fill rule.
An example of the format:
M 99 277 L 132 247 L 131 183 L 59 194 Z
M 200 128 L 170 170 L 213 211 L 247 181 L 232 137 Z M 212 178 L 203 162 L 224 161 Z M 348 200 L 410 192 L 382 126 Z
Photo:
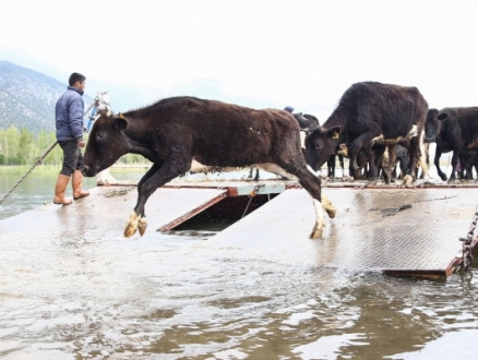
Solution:
M 446 278 L 462 263 L 459 239 L 466 238 L 477 211 L 476 187 L 404 189 L 339 183 L 323 191 L 337 215 L 326 217 L 327 226 L 318 240 L 309 239 L 315 216 L 310 195 L 296 182 L 279 180 L 170 182 L 146 203 L 147 231 L 169 231 L 235 197 L 241 202 L 223 206 L 223 211 L 240 207 L 242 218 L 200 248 L 318 267 L 420 277 Z M 96 187 L 89 197 L 74 205 L 50 203 L 1 220 L 0 240 L 38 231 L 59 239 L 122 233 L 136 196 L 132 184 Z M 473 245 L 476 242 L 475 236 Z

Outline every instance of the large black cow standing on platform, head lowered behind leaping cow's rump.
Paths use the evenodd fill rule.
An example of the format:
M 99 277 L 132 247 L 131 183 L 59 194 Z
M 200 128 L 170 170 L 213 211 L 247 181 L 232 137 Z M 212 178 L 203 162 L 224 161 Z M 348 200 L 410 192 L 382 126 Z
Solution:
M 404 183 L 416 178 L 420 136 L 428 103 L 416 87 L 362 82 L 351 85 L 322 127 L 309 129 L 306 137 L 307 163 L 316 171 L 336 151 L 349 146 L 350 175 L 358 176 L 357 155 L 362 148 L 370 164 L 371 182 L 385 146 L 404 139 L 410 142 L 410 164 Z

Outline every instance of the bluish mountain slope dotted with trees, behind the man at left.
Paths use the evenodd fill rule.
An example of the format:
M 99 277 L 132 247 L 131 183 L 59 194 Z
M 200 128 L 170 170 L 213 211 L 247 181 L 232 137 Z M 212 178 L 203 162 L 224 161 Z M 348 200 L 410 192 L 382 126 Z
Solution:
M 55 105 L 67 84 L 37 71 L 0 61 L 0 129 L 15 125 L 37 134 L 55 131 Z M 84 95 L 85 104 L 93 98 Z

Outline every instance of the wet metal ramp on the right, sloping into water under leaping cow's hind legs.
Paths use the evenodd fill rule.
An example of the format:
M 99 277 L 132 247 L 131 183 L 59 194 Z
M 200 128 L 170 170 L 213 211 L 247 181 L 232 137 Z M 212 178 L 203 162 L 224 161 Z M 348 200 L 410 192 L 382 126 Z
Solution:
M 459 238 L 468 233 L 478 202 L 477 189 L 324 192 L 337 215 L 326 217 L 322 239 L 309 239 L 315 216 L 310 195 L 291 189 L 205 245 L 314 266 L 446 277 L 461 261 Z

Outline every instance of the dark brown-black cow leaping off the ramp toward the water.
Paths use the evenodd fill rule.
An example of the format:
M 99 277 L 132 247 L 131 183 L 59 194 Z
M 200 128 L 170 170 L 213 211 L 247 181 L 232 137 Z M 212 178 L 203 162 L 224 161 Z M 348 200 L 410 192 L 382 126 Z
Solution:
M 335 208 L 321 194 L 321 181 L 302 156 L 300 130 L 283 110 L 254 110 L 195 97 L 172 97 L 124 113 L 96 120 L 86 145 L 82 172 L 93 177 L 122 155 L 143 155 L 153 163 L 138 183 L 138 203 L 124 229 L 131 237 L 146 230 L 144 206 L 157 188 L 188 171 L 192 159 L 217 167 L 270 164 L 298 178 L 313 197 L 319 238 Z M 322 205 L 321 205 L 322 202 Z

